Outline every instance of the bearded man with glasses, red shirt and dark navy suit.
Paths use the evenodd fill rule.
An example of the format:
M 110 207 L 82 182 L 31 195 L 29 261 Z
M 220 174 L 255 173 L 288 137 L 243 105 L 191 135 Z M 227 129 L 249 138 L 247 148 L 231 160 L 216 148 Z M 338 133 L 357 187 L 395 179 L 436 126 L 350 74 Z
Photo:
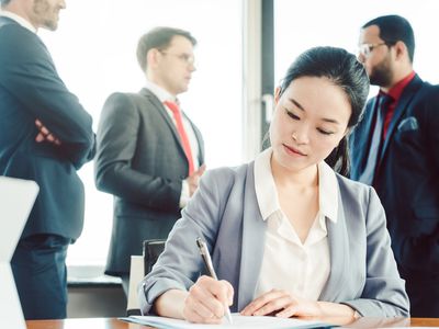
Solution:
M 439 316 L 439 87 L 413 70 L 415 37 L 402 16 L 361 29 L 359 60 L 379 94 L 350 137 L 351 178 L 373 185 L 415 317 Z

